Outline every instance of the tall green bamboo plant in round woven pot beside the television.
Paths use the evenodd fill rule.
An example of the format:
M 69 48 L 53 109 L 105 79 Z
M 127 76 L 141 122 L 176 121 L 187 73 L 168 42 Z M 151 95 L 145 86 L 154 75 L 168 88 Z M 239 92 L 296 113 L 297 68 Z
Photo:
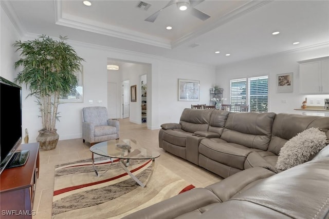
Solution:
M 15 62 L 15 68 L 23 68 L 15 81 L 26 84 L 30 92 L 28 96 L 36 97 L 42 118 L 42 129 L 36 141 L 44 150 L 57 146 L 56 121 L 59 121 L 60 97 L 77 92 L 75 72 L 81 71 L 81 62 L 84 61 L 65 42 L 66 37 L 59 38 L 56 41 L 42 35 L 33 41 L 16 41 L 13 45 L 16 51 L 21 51 L 22 57 Z

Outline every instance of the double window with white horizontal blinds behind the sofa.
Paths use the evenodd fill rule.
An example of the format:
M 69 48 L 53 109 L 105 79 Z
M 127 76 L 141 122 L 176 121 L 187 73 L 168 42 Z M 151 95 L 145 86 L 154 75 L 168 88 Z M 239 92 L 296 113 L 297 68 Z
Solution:
M 267 112 L 268 76 L 230 81 L 232 112 Z

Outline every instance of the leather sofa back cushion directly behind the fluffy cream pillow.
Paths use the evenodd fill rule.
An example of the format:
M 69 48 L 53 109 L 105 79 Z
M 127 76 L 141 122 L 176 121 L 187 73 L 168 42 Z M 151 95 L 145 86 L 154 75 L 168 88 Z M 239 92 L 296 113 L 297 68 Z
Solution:
M 279 113 L 273 121 L 272 137 L 268 151 L 279 155 L 283 145 L 298 133 L 311 128 L 319 128 L 329 138 L 329 117 Z

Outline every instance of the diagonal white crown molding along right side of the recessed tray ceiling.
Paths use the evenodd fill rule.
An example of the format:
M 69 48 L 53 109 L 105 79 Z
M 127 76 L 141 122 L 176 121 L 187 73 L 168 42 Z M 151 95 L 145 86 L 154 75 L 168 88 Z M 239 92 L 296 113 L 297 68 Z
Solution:
M 198 29 L 197 31 L 188 33 L 180 38 L 178 38 L 176 41 L 173 41 L 171 44 L 171 48 L 175 48 L 177 46 L 180 46 L 181 44 L 184 44 L 185 42 L 189 41 L 191 38 L 195 38 L 198 37 L 200 35 L 203 35 L 213 29 L 216 29 L 238 17 L 241 17 L 244 14 L 247 14 L 257 8 L 260 8 L 270 2 L 272 2 L 273 0 L 270 1 L 250 1 L 246 4 L 244 4 L 243 6 L 234 9 L 233 11 L 228 12 L 227 14 L 225 14 L 224 16 L 222 16 L 220 19 L 218 19 L 216 22 L 204 26 L 203 28 Z

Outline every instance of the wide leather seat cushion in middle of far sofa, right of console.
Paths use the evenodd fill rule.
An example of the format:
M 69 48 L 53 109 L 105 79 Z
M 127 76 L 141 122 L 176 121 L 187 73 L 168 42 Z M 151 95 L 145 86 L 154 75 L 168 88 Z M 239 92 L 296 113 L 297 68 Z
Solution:
M 205 138 L 200 142 L 199 153 L 211 160 L 234 167 L 244 169 L 244 162 L 249 153 L 260 151 L 243 145 L 228 143 L 218 138 Z

